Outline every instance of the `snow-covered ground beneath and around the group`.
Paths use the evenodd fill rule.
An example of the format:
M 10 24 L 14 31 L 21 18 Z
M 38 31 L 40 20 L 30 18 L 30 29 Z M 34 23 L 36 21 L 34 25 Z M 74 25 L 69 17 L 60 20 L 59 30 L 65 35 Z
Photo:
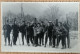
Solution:
M 12 37 L 12 34 L 11 34 Z M 61 49 L 61 43 L 59 45 L 59 48 L 52 48 L 49 47 L 47 44 L 47 47 L 44 46 L 38 46 L 34 47 L 32 45 L 27 46 L 26 41 L 25 45 L 22 45 L 22 39 L 21 39 L 21 33 L 19 33 L 19 38 L 17 39 L 17 45 L 16 46 L 5 46 L 4 45 L 4 35 L 1 36 L 1 51 L 2 52 L 79 52 L 79 42 L 78 42 L 78 31 L 70 31 L 70 46 L 71 48 Z M 25 38 L 24 38 L 25 40 Z

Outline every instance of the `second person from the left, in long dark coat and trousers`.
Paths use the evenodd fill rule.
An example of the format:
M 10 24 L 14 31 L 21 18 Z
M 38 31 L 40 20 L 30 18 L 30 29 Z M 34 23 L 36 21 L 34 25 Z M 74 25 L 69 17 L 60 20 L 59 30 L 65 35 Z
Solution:
M 13 45 L 16 45 L 18 33 L 19 33 L 19 26 L 17 25 L 16 21 L 14 21 L 14 24 L 12 25 L 13 29 Z

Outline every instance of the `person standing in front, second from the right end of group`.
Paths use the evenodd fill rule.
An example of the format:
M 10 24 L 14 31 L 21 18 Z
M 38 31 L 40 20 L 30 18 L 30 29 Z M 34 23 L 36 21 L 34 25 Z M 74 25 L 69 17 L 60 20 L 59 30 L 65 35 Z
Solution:
M 60 22 L 59 23 L 59 26 L 58 26 L 58 32 L 57 32 L 57 47 L 59 46 L 59 43 L 60 43 L 60 40 L 62 41 L 62 49 L 65 48 L 65 41 L 66 41 L 66 33 L 67 33 L 67 30 L 64 28 L 63 24 Z

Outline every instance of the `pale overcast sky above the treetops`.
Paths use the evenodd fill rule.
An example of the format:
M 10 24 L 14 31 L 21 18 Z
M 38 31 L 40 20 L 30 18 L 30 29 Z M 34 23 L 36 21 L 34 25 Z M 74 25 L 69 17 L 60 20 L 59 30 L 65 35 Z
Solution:
M 40 16 L 51 5 L 56 5 L 64 13 L 76 12 L 79 8 L 78 2 L 26 2 L 23 3 L 24 14 L 32 14 Z M 8 11 L 18 14 L 21 13 L 21 3 L 19 2 L 3 2 L 2 13 L 6 14 Z

